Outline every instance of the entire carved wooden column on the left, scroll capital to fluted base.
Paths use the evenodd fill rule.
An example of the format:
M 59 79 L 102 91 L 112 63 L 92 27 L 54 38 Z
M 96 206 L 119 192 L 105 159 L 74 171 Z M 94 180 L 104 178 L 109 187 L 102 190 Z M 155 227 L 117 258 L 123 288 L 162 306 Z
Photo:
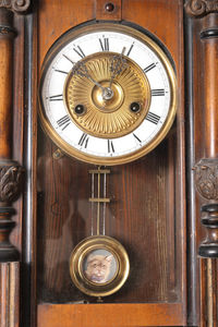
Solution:
M 10 242 L 15 223 L 12 203 L 19 197 L 24 169 L 12 160 L 14 13 L 29 1 L 0 1 L 0 326 L 19 326 L 19 252 Z

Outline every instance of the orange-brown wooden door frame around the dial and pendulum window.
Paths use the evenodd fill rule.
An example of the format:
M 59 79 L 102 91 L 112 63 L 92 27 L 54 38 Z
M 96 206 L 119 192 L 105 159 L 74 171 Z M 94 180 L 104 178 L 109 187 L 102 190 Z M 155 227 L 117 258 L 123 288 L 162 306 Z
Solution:
M 66 4 L 68 1 L 64 2 L 64 5 L 59 8 L 59 10 L 51 10 L 50 8 L 50 1 L 44 1 L 44 5 L 40 7 L 39 2 L 39 9 L 38 9 L 38 66 L 41 66 L 44 58 L 50 48 L 50 46 L 56 41 L 56 39 L 63 34 L 64 31 L 68 31 L 69 27 L 73 27 L 72 23 L 70 22 L 71 17 L 69 16 L 68 21 L 68 14 L 66 12 L 70 10 L 70 7 Z M 87 3 L 88 2 L 88 3 Z M 85 21 L 92 21 L 97 19 L 98 21 L 120 21 L 121 19 L 128 22 L 132 22 L 133 24 L 136 23 L 137 25 L 142 25 L 144 28 L 149 31 L 152 34 L 156 34 L 157 38 L 165 39 L 166 48 L 171 52 L 171 56 L 175 62 L 175 70 L 178 74 L 178 88 L 180 89 L 181 94 L 183 94 L 183 84 L 182 84 L 182 75 L 183 75 L 183 24 L 182 24 L 182 14 L 183 14 L 183 5 L 181 1 L 174 1 L 173 5 L 170 5 L 168 8 L 169 10 L 169 16 L 174 21 L 178 22 L 178 27 L 174 29 L 174 33 L 170 32 L 169 34 L 162 33 L 162 21 L 161 17 L 164 16 L 164 7 L 159 7 L 159 12 L 155 10 L 155 3 L 152 3 L 150 1 L 147 1 L 146 3 L 146 24 L 144 17 L 140 14 L 143 10 L 145 10 L 145 7 L 143 5 L 142 1 L 117 1 L 116 3 L 116 10 L 112 14 L 108 14 L 108 16 L 105 16 L 105 10 L 104 10 L 104 2 L 97 1 L 96 3 L 93 1 L 83 1 L 83 5 L 87 8 L 85 13 L 77 12 L 77 14 L 74 17 L 73 25 L 80 25 Z M 75 4 L 75 1 L 72 1 L 72 4 Z M 96 4 L 96 11 L 95 5 Z M 165 3 L 166 4 L 166 3 Z M 133 12 L 128 10 L 129 8 L 132 8 Z M 64 23 L 62 20 L 60 20 L 60 10 L 62 11 L 62 15 L 65 17 Z M 149 17 L 149 12 L 152 14 Z M 137 13 L 137 17 L 135 17 Z M 154 21 L 154 15 L 158 14 L 159 26 L 156 25 Z M 117 17 L 118 15 L 118 17 Z M 48 23 L 49 22 L 49 23 Z M 49 25 L 51 22 L 56 22 L 56 25 L 59 26 L 55 29 L 55 33 L 48 37 L 48 34 L 45 34 L 46 29 L 49 29 Z M 52 25 L 52 24 L 51 24 Z M 174 45 L 173 39 L 178 39 L 179 44 Z M 185 257 L 185 209 L 184 209 L 184 203 L 185 203 L 185 183 L 184 183 L 184 177 L 185 177 L 185 162 L 184 162 L 184 102 L 183 102 L 183 96 L 179 97 L 179 110 L 177 114 L 177 173 L 178 175 L 183 177 L 179 181 L 179 187 L 177 190 L 173 190 L 173 186 L 170 185 L 171 192 L 175 192 L 175 198 L 171 201 L 174 201 L 177 204 L 177 217 L 180 217 L 177 219 L 177 232 L 180 234 L 180 244 L 177 245 L 173 244 L 173 246 L 181 246 L 181 252 L 178 254 L 178 258 L 175 258 L 175 262 L 178 261 L 178 268 L 180 270 L 180 276 L 178 276 L 180 282 L 178 283 L 178 287 L 181 289 L 180 292 L 180 299 L 177 301 L 172 301 L 171 303 L 161 303 L 156 302 L 155 303 L 104 303 L 101 305 L 98 305 L 96 303 L 89 303 L 86 304 L 49 304 L 49 303 L 39 303 L 37 305 L 37 319 L 38 319 L 38 326 L 41 326 L 41 324 L 45 325 L 45 322 L 47 322 L 47 325 L 53 325 L 57 324 L 59 326 L 61 324 L 61 320 L 59 317 L 61 317 L 61 312 L 64 312 L 65 315 L 69 316 L 69 318 L 64 322 L 65 326 L 71 325 L 71 320 L 74 322 L 76 325 L 81 326 L 102 326 L 107 324 L 108 326 L 125 326 L 126 324 L 130 324 L 130 326 L 181 326 L 186 325 L 186 291 L 185 291 L 185 284 L 186 284 L 186 257 Z M 171 154 L 172 155 L 172 154 Z M 169 156 L 171 156 L 169 154 Z M 169 159 L 171 161 L 171 158 Z M 173 165 L 171 167 L 171 179 L 173 183 Z M 170 183 L 170 181 L 169 181 Z M 130 186 L 129 186 L 130 187 Z M 181 205 L 182 204 L 182 205 Z M 173 214 L 172 214 L 173 215 Z M 50 222 L 51 223 L 51 222 Z M 172 227 L 170 227 L 172 228 Z M 172 228 L 173 229 L 173 228 Z M 173 230 L 172 230 L 173 234 Z M 175 241 L 178 242 L 178 241 Z M 181 245 L 182 244 L 182 245 Z M 171 267 L 172 268 L 172 267 Z M 173 268 L 172 268 L 173 269 Z M 174 272 L 177 276 L 177 271 Z M 173 272 L 172 272 L 173 275 Z M 174 278 L 177 278 L 174 276 Z M 173 276 L 172 276 L 173 279 Z M 157 314 L 158 313 L 158 314 Z M 126 316 L 130 316 L 130 322 L 126 322 Z M 96 320 L 96 317 L 98 317 L 98 322 Z M 106 318 L 107 317 L 107 318 Z M 62 319 L 62 318 L 61 318 Z M 56 322 L 56 323 L 55 323 Z M 93 322 L 93 323 L 90 323 Z

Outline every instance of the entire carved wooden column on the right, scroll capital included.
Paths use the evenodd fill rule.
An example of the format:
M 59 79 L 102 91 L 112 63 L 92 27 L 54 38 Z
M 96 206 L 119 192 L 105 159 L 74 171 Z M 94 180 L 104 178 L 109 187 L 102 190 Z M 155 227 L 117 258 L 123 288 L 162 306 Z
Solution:
M 193 64 L 195 100 L 195 186 L 201 195 L 202 226 L 198 255 L 201 259 L 201 326 L 217 326 L 218 306 L 218 1 L 187 0 L 187 14 L 195 19 Z M 196 50 L 197 49 L 197 50 Z M 196 56 L 195 53 L 195 56 Z M 197 75 L 197 77 L 196 77 Z M 197 156 L 196 156 L 197 157 Z M 198 160 L 197 160 L 198 159 Z M 198 204 L 198 202 L 197 202 Z

